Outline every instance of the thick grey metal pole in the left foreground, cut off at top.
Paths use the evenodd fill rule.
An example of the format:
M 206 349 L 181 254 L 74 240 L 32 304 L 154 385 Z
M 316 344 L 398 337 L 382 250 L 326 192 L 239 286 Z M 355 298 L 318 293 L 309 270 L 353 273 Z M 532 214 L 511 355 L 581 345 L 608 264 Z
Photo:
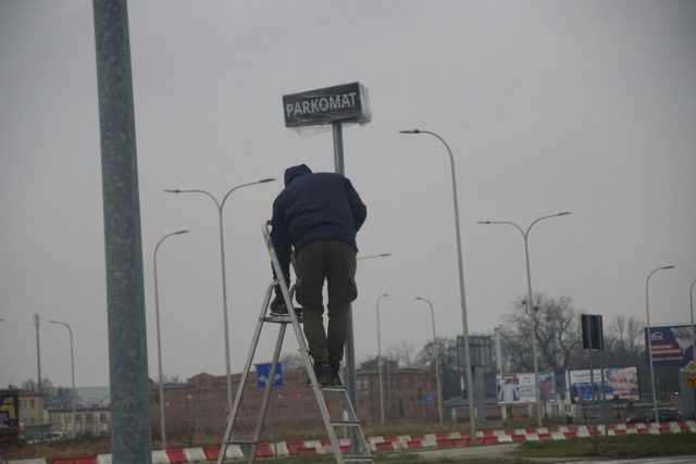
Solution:
M 94 0 L 113 464 L 149 463 L 142 241 L 125 0 Z

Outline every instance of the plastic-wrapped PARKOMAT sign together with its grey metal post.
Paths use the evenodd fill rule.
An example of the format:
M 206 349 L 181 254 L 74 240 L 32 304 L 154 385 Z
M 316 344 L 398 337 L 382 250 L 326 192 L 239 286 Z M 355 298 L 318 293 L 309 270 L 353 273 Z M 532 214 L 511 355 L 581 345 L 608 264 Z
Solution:
M 368 124 L 371 120 L 368 89 L 360 83 L 350 83 L 299 93 L 283 96 L 285 127 L 323 126 L 331 124 L 334 135 L 334 165 L 336 174 L 346 175 L 344 167 L 344 123 Z M 348 309 L 348 333 L 345 346 L 345 381 L 350 403 L 358 414 L 356 388 L 356 350 L 352 330 L 352 306 Z M 351 428 L 350 444 L 353 452 L 358 439 Z

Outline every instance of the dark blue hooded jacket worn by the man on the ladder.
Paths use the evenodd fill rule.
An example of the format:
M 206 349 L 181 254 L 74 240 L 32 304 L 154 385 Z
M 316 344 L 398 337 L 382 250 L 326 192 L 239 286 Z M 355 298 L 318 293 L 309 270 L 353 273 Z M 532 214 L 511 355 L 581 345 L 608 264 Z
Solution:
M 271 239 L 283 273 L 289 278 L 295 252 L 315 240 L 343 240 L 356 251 L 356 233 L 368 215 L 360 196 L 346 177 L 313 174 L 304 164 L 285 171 L 285 189 L 273 202 Z

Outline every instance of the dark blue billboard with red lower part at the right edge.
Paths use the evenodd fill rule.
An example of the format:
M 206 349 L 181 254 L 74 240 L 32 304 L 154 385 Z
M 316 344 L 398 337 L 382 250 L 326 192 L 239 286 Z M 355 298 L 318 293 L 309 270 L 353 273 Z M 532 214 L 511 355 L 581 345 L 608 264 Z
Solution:
M 656 366 L 685 366 L 694 356 L 694 339 L 688 324 L 650 327 L 650 351 Z M 648 347 L 648 328 L 645 327 L 645 346 Z M 646 348 L 647 353 L 647 348 Z

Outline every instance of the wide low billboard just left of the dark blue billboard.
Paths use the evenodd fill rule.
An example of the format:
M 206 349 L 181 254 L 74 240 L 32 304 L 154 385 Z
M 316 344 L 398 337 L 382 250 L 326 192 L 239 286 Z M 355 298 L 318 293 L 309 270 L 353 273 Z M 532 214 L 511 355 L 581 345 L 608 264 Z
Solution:
M 593 380 L 595 391 L 605 393 L 608 400 L 639 401 L 638 390 L 638 368 L 629 367 L 606 367 L 605 381 L 601 383 L 601 369 L 593 369 Z M 573 403 L 592 400 L 592 384 L 589 381 L 589 369 L 570 371 L 570 394 Z

